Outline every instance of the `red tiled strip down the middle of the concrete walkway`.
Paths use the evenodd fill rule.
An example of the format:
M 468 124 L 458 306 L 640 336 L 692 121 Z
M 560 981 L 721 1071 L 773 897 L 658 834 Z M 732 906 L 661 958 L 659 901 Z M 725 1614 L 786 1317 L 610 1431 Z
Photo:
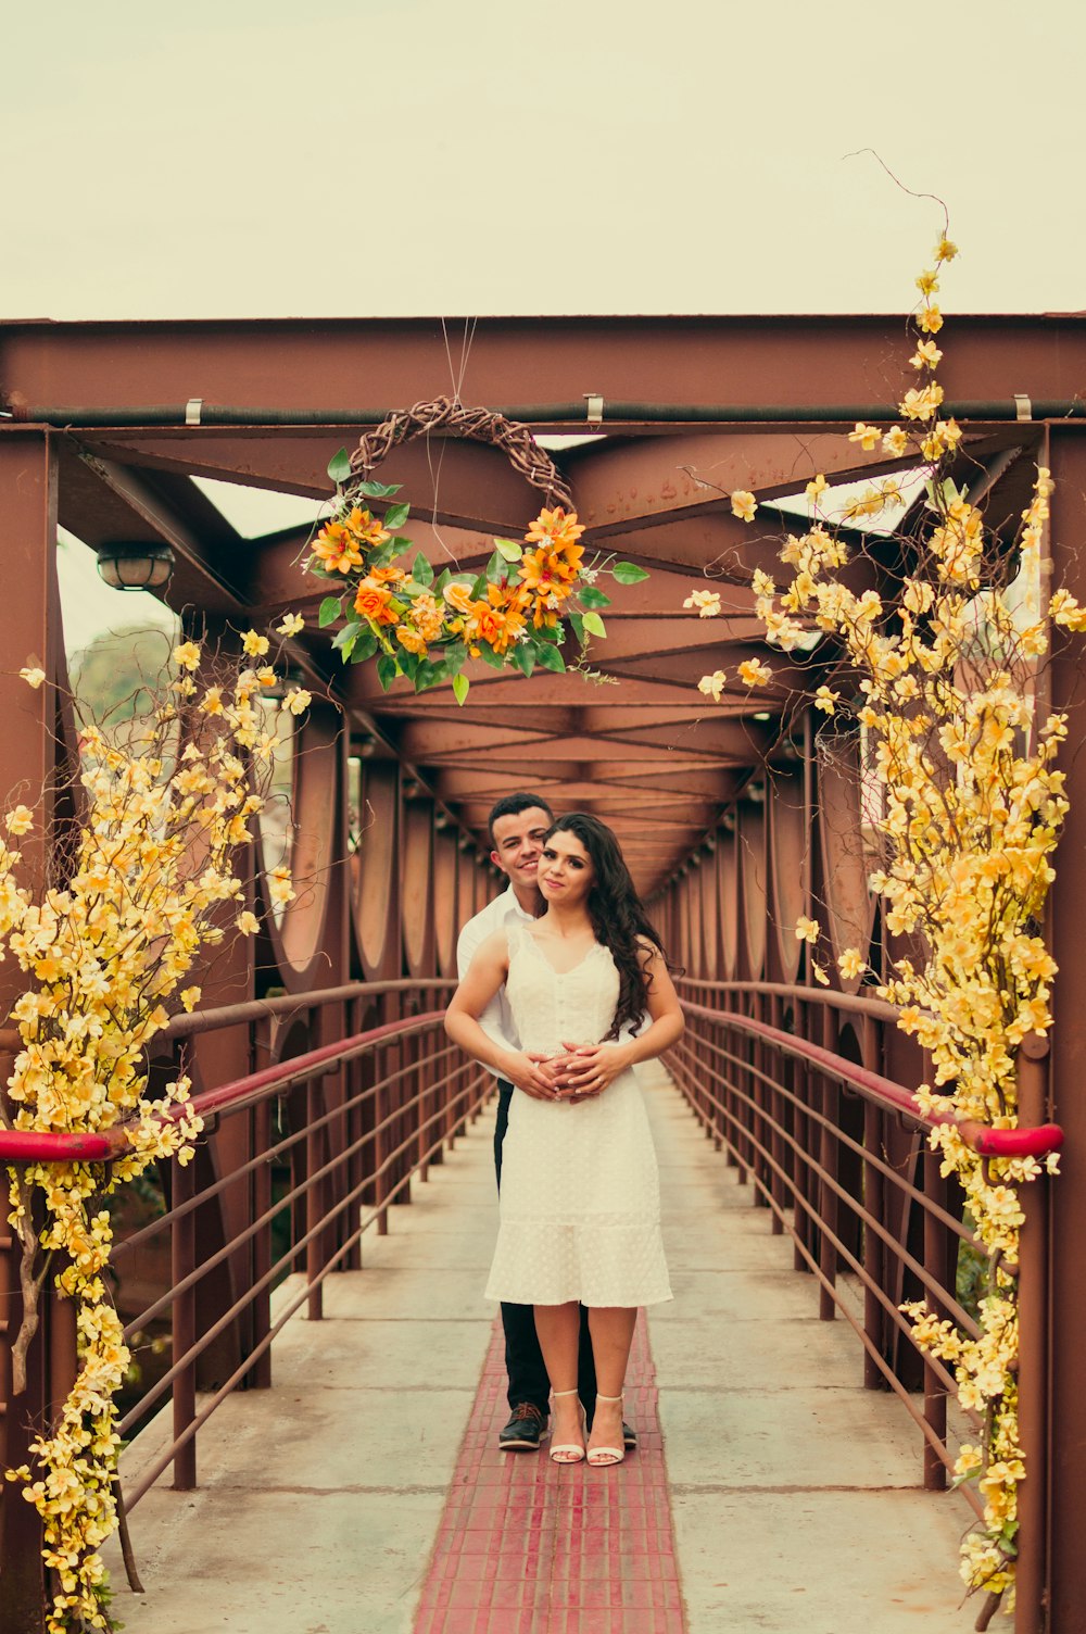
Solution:
M 655 1381 L 642 1312 L 625 1386 L 635 1453 L 612 1469 L 500 1453 L 495 1322 L 415 1634 L 686 1634 Z

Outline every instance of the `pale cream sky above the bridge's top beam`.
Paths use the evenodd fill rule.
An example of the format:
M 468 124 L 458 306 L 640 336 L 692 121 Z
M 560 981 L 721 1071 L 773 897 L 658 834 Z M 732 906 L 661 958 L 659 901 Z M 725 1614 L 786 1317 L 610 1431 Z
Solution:
M 1081 0 L 7 0 L 0 317 L 1086 307 Z

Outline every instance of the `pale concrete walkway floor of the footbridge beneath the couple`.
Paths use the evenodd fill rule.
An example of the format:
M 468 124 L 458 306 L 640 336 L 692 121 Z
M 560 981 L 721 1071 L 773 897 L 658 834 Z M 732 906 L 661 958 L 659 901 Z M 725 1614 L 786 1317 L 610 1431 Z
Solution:
M 771 1235 L 768 1212 L 666 1080 L 647 1080 L 647 1093 L 676 1292 L 648 1325 L 668 1477 L 658 1502 L 668 1490 L 689 1634 L 965 1634 L 975 1614 L 957 1580 L 965 1505 L 919 1489 L 919 1436 L 893 1397 L 859 1387 L 851 1330 L 818 1322 L 789 1240 Z M 137 1507 L 142 1596 L 109 1554 L 114 1613 L 129 1634 L 673 1627 L 671 1614 L 557 1600 L 545 1583 L 519 1611 L 496 1609 L 493 1596 L 488 1609 L 467 1609 L 482 1606 L 477 1593 L 434 1598 L 443 1572 L 472 1575 L 446 1500 L 482 1479 L 478 1456 L 469 1466 L 461 1454 L 472 1413 L 485 1440 L 496 1395 L 493 1307 L 480 1292 L 496 1224 L 490 1137 L 492 1119 L 480 1119 L 415 1203 L 392 1211 L 389 1237 L 366 1239 L 366 1270 L 325 1284 L 323 1322 L 287 1325 L 273 1389 L 230 1397 L 203 1431 L 199 1490 L 158 1487 Z M 152 1425 L 127 1449 L 126 1479 L 163 1433 Z M 554 1502 L 541 1461 L 485 1456 L 487 1479 L 534 1484 L 536 1515 Z M 647 1480 L 660 1436 L 629 1466 L 593 1472 L 619 1508 L 635 1458 Z M 630 1479 L 630 1503 L 635 1489 Z M 498 1560 L 475 1560 L 480 1578 L 498 1575 L 510 1546 L 523 1551 L 518 1538 L 496 1546 Z M 590 1575 L 588 1551 L 578 1559 Z M 640 1570 L 648 1575 L 643 1562 L 629 1567 Z M 446 1603 L 443 1621 L 433 1608 Z

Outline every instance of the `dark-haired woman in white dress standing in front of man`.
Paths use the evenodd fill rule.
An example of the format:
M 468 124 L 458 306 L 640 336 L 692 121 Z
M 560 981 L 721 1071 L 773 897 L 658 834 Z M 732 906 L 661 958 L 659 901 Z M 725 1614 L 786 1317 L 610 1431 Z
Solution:
M 536 1307 L 554 1395 L 550 1458 L 617 1464 L 637 1307 L 671 1297 L 656 1155 L 630 1069 L 674 1044 L 683 1013 L 604 824 L 583 812 L 560 817 L 536 877 L 545 913 L 487 938 L 446 1029 L 501 1077 L 537 1085 L 519 1090 L 510 1109 L 487 1297 Z M 521 1052 L 478 1026 L 503 984 Z M 630 1036 L 645 1011 L 650 1025 Z M 588 1438 L 576 1397 L 578 1304 L 588 1307 L 599 1389 Z

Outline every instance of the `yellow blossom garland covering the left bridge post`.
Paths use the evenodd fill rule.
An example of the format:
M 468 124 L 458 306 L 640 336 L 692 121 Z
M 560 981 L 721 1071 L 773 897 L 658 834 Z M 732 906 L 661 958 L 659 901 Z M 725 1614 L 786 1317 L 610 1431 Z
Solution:
M 287 614 L 279 634 L 300 627 Z M 237 660 L 204 654 L 196 641 L 173 649 L 170 694 L 142 721 L 80 734 L 83 812 L 73 845 L 57 835 L 57 884 L 34 895 L 23 853 L 34 812 L 11 807 L 0 842 L 0 953 L 15 956 L 33 985 L 11 1016 L 21 1049 L 0 1088 L 7 1129 L 77 1134 L 124 1126 L 127 1149 L 113 1163 L 8 1167 L 10 1224 L 23 1243 L 23 1324 L 13 1346 L 15 1394 L 38 1324 L 38 1291 L 52 1275 L 75 1302 L 78 1374 L 56 1422 L 31 1443 L 31 1462 L 8 1469 L 42 1523 L 42 1559 L 54 1592 L 47 1634 L 108 1629 L 101 1546 L 118 1528 L 119 1454 L 116 1394 L 129 1348 L 108 1288 L 113 1229 L 106 1199 L 150 1163 L 188 1163 L 203 1124 L 180 1074 L 147 1095 L 145 1051 L 170 1008 L 193 1010 L 185 987 L 201 948 L 232 928 L 251 936 L 260 922 L 234 869 L 263 807 L 278 730 L 261 694 L 276 681 L 265 663 L 266 636 L 247 631 Z M 38 665 L 28 686 L 46 681 Z M 211 678 L 209 678 L 211 676 Z M 281 708 L 302 714 L 309 693 L 291 688 Z M 52 837 L 46 835 L 49 845 Z M 271 904 L 287 904 L 287 868 L 265 879 Z

